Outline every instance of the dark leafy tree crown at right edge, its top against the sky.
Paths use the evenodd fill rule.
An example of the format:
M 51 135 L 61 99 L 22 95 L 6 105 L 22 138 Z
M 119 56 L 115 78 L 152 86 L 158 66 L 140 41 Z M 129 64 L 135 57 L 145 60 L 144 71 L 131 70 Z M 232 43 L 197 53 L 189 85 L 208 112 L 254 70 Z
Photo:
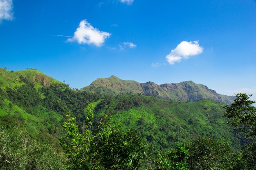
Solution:
M 246 139 L 256 139 L 256 108 L 252 106 L 255 102 L 249 100 L 251 96 L 238 93 L 230 106 L 224 106 L 228 123 L 243 132 Z

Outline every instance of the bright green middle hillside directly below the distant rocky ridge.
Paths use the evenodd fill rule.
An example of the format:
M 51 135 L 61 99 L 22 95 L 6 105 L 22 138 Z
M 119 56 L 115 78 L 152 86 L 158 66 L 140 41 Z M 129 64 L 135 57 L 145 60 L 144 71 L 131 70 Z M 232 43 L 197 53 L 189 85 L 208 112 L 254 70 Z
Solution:
M 240 146 L 240 134 L 234 135 L 223 118 L 222 104 L 211 100 L 198 102 L 166 101 L 144 95 L 119 95 L 103 99 L 96 107 L 95 119 L 105 114 L 113 124 L 138 129 L 146 142 L 160 150 L 170 150 L 179 142 L 199 136 L 227 139 Z

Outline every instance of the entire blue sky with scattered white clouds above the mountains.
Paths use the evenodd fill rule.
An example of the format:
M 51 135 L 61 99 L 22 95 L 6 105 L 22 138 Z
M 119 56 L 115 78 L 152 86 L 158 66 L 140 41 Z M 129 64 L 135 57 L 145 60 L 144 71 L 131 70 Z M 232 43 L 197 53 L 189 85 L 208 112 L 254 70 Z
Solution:
M 255 64 L 255 0 L 0 0 L 0 67 L 72 88 L 116 75 L 256 95 Z

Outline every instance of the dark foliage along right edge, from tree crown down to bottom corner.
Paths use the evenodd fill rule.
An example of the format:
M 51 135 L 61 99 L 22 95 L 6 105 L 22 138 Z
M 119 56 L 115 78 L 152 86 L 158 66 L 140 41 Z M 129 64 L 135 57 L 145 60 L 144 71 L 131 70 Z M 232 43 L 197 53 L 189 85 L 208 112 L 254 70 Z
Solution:
M 244 160 L 247 162 L 248 169 L 256 167 L 256 108 L 253 106 L 255 102 L 249 100 L 251 96 L 238 93 L 233 104 L 224 106 L 226 109 L 224 115 L 229 118 L 228 123 L 243 132 L 248 139 L 248 144 L 243 147 Z

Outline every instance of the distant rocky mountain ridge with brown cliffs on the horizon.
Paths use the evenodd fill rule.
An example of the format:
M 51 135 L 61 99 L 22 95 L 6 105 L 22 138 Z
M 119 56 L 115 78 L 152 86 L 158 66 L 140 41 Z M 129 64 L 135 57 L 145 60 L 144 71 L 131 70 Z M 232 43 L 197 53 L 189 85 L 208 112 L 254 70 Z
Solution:
M 114 75 L 109 78 L 99 78 L 89 86 L 84 87 L 82 91 L 106 95 L 141 93 L 159 99 L 190 102 L 200 99 L 211 99 L 225 104 L 231 104 L 235 99 L 235 96 L 220 95 L 207 86 L 196 84 L 192 81 L 158 85 L 154 82 L 139 83 L 132 80 L 122 80 Z

